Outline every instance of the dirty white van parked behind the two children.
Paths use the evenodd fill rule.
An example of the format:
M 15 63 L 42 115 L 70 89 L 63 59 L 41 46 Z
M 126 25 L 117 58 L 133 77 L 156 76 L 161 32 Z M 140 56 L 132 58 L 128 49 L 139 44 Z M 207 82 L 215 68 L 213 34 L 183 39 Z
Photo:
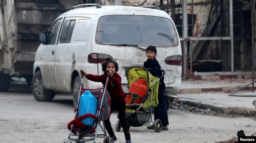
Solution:
M 39 101 L 51 101 L 55 93 L 72 93 L 76 105 L 80 70 L 101 75 L 101 63 L 110 57 L 119 65 L 123 89 L 125 71 L 143 66 L 146 47 L 157 47 L 157 60 L 165 70 L 167 95 L 177 95 L 181 83 L 180 39 L 170 16 L 156 6 L 76 5 L 39 33 L 34 62 L 32 93 Z M 83 80 L 84 88 L 102 83 Z

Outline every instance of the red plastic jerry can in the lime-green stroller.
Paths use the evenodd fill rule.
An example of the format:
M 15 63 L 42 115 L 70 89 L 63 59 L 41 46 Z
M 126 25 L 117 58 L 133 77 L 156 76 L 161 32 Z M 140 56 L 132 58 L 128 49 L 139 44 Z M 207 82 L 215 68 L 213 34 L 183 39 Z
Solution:
M 138 78 L 135 82 L 131 84 L 131 87 L 128 90 L 128 93 L 135 93 L 141 96 L 143 99 L 148 92 L 148 87 L 146 86 L 146 80 Z M 133 98 L 131 94 L 126 95 L 125 103 L 126 104 L 141 104 L 140 98 Z

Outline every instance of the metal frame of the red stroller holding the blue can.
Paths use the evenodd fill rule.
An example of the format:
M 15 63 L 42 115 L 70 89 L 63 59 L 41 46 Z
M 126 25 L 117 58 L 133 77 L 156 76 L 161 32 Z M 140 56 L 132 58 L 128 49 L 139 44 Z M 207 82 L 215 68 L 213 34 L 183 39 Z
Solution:
M 84 142 L 87 142 L 87 141 L 94 140 L 94 143 L 96 143 L 96 139 L 97 139 L 97 138 L 104 138 L 103 143 L 113 143 L 113 142 L 114 142 L 114 140 L 113 140 L 112 138 L 109 138 L 109 137 L 107 136 L 107 130 L 106 130 L 106 128 L 105 128 L 104 118 L 103 118 L 103 115 L 102 115 L 102 112 L 103 112 L 103 110 L 102 110 L 102 104 L 103 104 L 104 98 L 107 98 L 107 97 L 105 97 L 105 96 L 106 96 L 106 94 L 107 94 L 107 93 L 106 93 L 106 91 L 107 91 L 106 89 L 107 89 L 107 82 L 108 82 L 109 77 L 110 77 L 110 76 L 108 75 L 108 76 L 107 76 L 106 83 L 105 83 L 105 86 L 104 86 L 104 88 L 102 88 L 102 90 L 101 90 L 102 98 L 101 98 L 101 99 L 100 99 L 100 98 L 98 99 L 98 100 L 100 100 L 100 105 L 97 106 L 98 108 L 97 108 L 96 115 L 93 115 L 93 114 L 91 114 L 91 113 L 87 113 L 87 114 L 85 114 L 85 115 L 82 115 L 82 116 L 78 117 L 78 108 L 79 108 L 79 103 L 80 103 L 80 96 L 82 95 L 81 92 L 82 92 L 82 89 L 85 90 L 85 89 L 83 88 L 83 87 L 84 87 L 84 85 L 83 85 L 83 78 L 84 78 L 84 75 L 81 76 L 81 83 L 80 83 L 80 88 L 79 88 L 79 93 L 80 93 L 80 95 L 78 96 L 78 103 L 77 103 L 76 109 L 75 109 L 75 119 L 74 119 L 74 120 L 76 120 L 76 119 L 78 119 L 78 118 L 80 118 L 80 119 L 82 120 L 83 118 L 86 118 L 86 117 L 92 117 L 92 118 L 95 119 L 95 121 L 94 121 L 93 125 L 87 129 L 87 131 L 88 131 L 88 130 L 94 130 L 94 129 L 96 129 L 96 130 L 95 130 L 95 132 L 92 133 L 92 134 L 79 133 L 79 132 L 77 132 L 76 130 L 73 130 L 74 125 L 73 125 L 71 122 L 73 122 L 74 120 L 72 120 L 72 121 L 70 122 L 72 125 L 69 125 L 70 123 L 68 124 L 68 129 L 70 130 L 70 132 L 69 132 L 69 134 L 68 134 L 68 138 L 67 138 L 66 142 L 64 142 L 64 143 L 68 143 L 68 140 L 75 141 L 76 143 L 84 143 Z M 109 117 L 108 117 L 108 118 L 109 118 Z M 80 120 L 80 119 L 78 119 L 78 120 Z M 100 124 L 101 121 L 102 121 L 102 123 L 103 123 L 103 126 Z M 104 134 L 98 134 L 98 129 L 99 129 L 99 127 L 102 128 L 102 131 L 104 132 Z M 93 129 L 92 129 L 92 128 L 93 128 Z M 72 133 L 73 133 L 73 134 L 72 134 Z M 76 137 L 78 137 L 78 138 L 71 138 L 71 135 L 72 135 L 72 136 L 76 136 Z M 89 137 L 89 138 L 86 138 L 86 137 Z

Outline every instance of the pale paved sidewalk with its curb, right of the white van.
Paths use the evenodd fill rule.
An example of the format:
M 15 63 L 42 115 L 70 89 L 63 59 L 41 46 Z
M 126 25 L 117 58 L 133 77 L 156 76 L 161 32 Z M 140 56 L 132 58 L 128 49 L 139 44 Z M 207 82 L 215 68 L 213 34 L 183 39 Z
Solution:
M 183 105 L 211 109 L 218 113 L 251 116 L 256 115 L 256 107 L 253 105 L 256 90 L 253 92 L 250 83 L 252 79 L 186 80 L 181 82 L 178 96 Z M 238 92 L 232 93 L 234 91 Z

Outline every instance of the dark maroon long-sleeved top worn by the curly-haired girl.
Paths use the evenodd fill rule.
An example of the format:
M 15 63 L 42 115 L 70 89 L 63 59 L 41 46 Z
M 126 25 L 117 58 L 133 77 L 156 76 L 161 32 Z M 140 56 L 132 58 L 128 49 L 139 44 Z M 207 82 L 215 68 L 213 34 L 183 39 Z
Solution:
M 107 74 L 91 75 L 87 74 L 86 78 L 91 81 L 101 82 L 105 85 L 107 81 Z M 110 94 L 111 102 L 121 102 L 125 100 L 125 92 L 121 85 L 122 78 L 118 73 L 115 73 L 107 82 L 107 91 Z

